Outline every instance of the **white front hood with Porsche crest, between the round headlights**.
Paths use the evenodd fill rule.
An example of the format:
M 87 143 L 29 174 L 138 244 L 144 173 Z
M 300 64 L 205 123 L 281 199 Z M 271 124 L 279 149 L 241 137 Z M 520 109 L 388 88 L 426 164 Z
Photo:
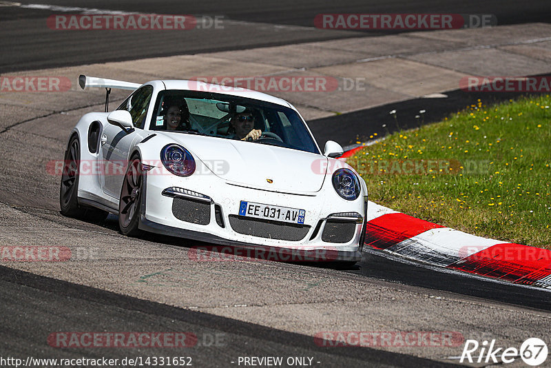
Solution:
M 233 139 L 165 134 L 229 182 L 281 192 L 318 192 L 323 185 L 327 158 L 320 154 Z

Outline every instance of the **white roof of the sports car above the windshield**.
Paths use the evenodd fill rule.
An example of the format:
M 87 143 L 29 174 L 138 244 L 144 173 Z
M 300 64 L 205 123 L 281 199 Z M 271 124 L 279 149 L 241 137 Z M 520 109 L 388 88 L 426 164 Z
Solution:
M 218 85 L 205 83 L 202 81 L 189 81 L 185 79 L 163 79 L 161 81 L 151 81 L 146 84 L 156 85 L 158 83 L 163 83 L 167 90 L 191 90 L 198 92 L 213 92 L 234 96 L 242 96 L 247 99 L 266 101 L 270 103 L 276 103 L 287 108 L 292 108 L 292 105 L 284 99 L 279 99 L 278 97 L 271 96 L 262 92 L 248 90 L 247 88 L 231 87 L 229 85 Z

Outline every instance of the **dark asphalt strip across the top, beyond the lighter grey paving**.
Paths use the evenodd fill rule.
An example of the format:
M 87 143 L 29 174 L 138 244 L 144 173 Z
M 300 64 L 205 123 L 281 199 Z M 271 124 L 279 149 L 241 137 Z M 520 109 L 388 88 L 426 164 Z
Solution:
M 1 3 L 3 3 L 2 1 Z M 36 1 L 20 1 L 37 3 Z M 7 1 L 9 3 L 9 1 Z M 0 6 L 0 73 L 16 70 L 123 61 L 176 54 L 322 41 L 395 31 L 320 30 L 314 27 L 316 14 L 324 13 L 457 13 L 495 14 L 497 24 L 548 22 L 551 7 L 547 0 L 519 3 L 514 0 L 451 1 L 357 1 L 331 0 L 275 2 L 240 1 L 41 1 L 68 7 L 123 10 L 156 14 L 207 15 L 224 19 L 223 29 L 102 30 L 65 32 L 52 30 L 46 19 L 52 14 L 71 14 L 56 9 L 39 10 Z M 253 35 L 253 37 L 251 37 Z

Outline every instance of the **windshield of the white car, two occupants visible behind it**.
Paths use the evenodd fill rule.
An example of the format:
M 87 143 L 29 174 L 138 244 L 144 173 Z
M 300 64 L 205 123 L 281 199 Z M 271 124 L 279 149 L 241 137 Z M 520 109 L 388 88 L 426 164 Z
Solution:
M 159 92 L 150 130 L 202 134 L 319 154 L 304 121 L 282 105 L 209 92 Z

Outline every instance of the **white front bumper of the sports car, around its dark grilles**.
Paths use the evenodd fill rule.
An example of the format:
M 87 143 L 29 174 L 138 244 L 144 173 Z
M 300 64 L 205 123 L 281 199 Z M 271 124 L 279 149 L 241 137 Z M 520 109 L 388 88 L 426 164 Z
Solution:
M 366 218 L 364 214 L 367 205 L 364 196 L 360 196 L 357 201 L 344 201 L 332 187 L 331 191 L 327 190 L 326 185 L 320 192 L 311 195 L 271 192 L 232 185 L 214 175 L 192 175 L 180 178 L 178 176 L 149 176 L 146 174 L 144 181 L 146 190 L 142 196 L 139 228 L 147 232 L 245 249 L 258 250 L 275 247 L 279 254 L 296 256 L 302 252 L 304 258 L 309 258 L 312 255 L 311 252 L 317 251 L 315 254 L 322 254 L 321 257 L 314 257 L 319 258 L 315 259 L 318 261 L 355 262 L 362 258 L 364 239 L 362 231 L 365 231 Z M 183 221 L 181 216 L 177 218 L 173 209 L 174 198 L 177 196 L 167 196 L 167 188 L 171 187 L 183 188 L 204 196 L 196 199 L 209 206 L 207 209 L 210 212 L 209 220 L 192 223 Z M 305 209 L 305 236 L 300 240 L 289 241 L 258 236 L 259 234 L 246 234 L 242 229 L 236 231 L 234 229 L 236 219 L 244 219 L 238 216 L 240 201 L 271 203 L 272 205 Z M 205 208 L 205 205 L 202 207 Z M 353 232 L 349 240 L 346 238 L 342 243 L 327 241 L 328 237 L 324 229 L 329 222 L 335 224 L 331 218 L 328 222 L 328 217 L 331 214 L 344 212 L 361 214 L 362 220 L 347 224 L 348 229 Z M 220 225 L 219 219 L 221 219 L 222 225 Z M 249 218 L 247 221 L 250 221 Z M 340 221 L 343 222 L 342 219 Z M 271 226 L 273 227 L 273 225 Z

